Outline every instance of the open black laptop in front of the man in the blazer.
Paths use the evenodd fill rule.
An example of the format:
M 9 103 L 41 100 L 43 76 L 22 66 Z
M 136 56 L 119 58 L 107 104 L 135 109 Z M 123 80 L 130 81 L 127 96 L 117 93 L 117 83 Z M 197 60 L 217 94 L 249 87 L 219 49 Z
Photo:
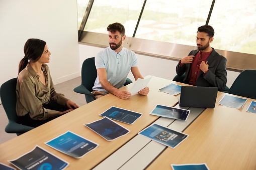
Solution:
M 218 87 L 182 86 L 180 106 L 214 108 Z

